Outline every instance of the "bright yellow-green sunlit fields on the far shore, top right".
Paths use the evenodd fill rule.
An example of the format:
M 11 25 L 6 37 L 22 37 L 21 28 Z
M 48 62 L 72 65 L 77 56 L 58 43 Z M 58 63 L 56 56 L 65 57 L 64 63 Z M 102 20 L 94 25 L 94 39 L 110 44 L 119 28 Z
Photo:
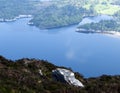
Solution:
M 90 9 L 90 7 L 93 6 L 93 9 L 98 14 L 114 15 L 116 12 L 120 10 L 120 6 L 113 5 L 112 2 L 114 1 L 90 0 L 90 1 L 87 1 L 83 7 L 86 9 Z

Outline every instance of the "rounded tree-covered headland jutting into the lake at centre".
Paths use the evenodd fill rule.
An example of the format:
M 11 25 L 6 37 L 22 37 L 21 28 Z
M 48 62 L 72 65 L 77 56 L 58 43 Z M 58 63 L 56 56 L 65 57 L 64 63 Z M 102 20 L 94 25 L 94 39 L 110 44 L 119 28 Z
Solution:
M 47 12 L 46 12 L 47 11 Z M 38 12 L 31 20 L 39 28 L 54 28 L 79 23 L 87 10 L 75 6 L 49 6 Z

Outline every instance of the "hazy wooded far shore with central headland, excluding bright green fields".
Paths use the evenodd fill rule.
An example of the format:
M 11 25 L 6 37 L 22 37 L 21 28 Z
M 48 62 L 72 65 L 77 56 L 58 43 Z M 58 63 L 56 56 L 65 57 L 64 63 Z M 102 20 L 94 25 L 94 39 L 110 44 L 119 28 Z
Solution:
M 33 15 L 31 22 L 39 28 L 62 27 L 79 23 L 86 10 L 72 5 L 72 2 L 71 4 L 65 3 L 65 5 L 59 4 L 60 2 L 2 0 L 0 1 L 0 18 L 13 19 L 20 14 L 31 14 Z

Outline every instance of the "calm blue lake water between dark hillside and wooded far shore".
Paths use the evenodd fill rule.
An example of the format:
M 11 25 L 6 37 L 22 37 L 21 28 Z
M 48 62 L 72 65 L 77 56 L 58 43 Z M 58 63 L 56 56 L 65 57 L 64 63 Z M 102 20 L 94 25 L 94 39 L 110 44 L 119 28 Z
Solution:
M 0 55 L 48 60 L 85 77 L 120 74 L 120 38 L 77 33 L 76 25 L 39 30 L 29 20 L 0 23 Z

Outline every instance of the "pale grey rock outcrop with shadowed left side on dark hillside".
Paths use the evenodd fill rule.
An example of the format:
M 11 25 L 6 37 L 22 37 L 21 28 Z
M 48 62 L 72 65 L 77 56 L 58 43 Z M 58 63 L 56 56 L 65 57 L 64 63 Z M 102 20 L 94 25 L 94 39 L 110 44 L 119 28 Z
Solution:
M 61 81 L 64 83 L 69 83 L 70 85 L 84 87 L 84 85 L 75 78 L 75 75 L 72 71 L 62 68 L 57 68 L 52 71 L 53 77 L 57 81 Z

